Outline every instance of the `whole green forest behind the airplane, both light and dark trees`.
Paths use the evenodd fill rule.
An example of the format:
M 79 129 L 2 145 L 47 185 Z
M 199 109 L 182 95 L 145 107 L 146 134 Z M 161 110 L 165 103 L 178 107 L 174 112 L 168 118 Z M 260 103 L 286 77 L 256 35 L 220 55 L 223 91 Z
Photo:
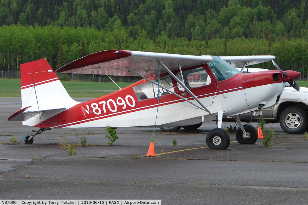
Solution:
M 307 78 L 307 15 L 306 0 L 0 0 L 0 70 L 130 49 L 275 55 Z

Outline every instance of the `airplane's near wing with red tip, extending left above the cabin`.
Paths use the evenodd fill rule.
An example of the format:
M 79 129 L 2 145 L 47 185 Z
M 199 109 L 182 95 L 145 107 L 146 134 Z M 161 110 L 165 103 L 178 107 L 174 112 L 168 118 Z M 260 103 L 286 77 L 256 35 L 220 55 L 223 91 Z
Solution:
M 136 73 L 149 77 L 158 74 L 158 61 L 170 70 L 200 65 L 212 61 L 208 55 L 193 56 L 169 53 L 152 53 L 128 50 L 105 50 L 79 58 L 56 70 L 57 73 L 98 74 L 117 76 L 137 76 Z M 163 68 L 161 73 L 166 72 Z

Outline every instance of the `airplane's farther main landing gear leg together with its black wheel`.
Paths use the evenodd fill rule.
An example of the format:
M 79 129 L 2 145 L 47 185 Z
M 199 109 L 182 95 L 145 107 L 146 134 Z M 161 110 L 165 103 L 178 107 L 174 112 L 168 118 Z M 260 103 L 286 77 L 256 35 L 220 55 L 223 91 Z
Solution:
M 255 127 L 250 124 L 242 125 L 238 116 L 234 117 L 237 125 L 240 127 L 235 133 L 235 137 L 238 143 L 240 144 L 254 144 L 258 139 L 258 132 Z

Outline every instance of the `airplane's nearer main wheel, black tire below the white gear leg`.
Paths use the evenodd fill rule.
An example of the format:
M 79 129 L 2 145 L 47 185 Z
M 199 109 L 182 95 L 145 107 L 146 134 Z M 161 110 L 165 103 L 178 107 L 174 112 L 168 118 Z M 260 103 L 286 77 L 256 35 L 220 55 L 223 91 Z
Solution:
M 227 149 L 230 145 L 230 136 L 225 130 L 215 128 L 206 136 L 206 144 L 210 149 Z

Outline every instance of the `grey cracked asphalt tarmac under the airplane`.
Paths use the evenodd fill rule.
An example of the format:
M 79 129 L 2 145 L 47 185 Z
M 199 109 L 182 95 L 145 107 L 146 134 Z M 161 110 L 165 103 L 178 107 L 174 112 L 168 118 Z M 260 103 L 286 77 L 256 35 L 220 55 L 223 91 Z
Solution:
M 76 99 L 86 101 L 86 98 Z M 155 157 L 147 154 L 152 128 L 118 128 L 113 146 L 103 128 L 52 129 L 24 144 L 33 129 L 7 118 L 20 98 L 0 98 L 0 199 L 161 199 L 162 204 L 307 204 L 308 140 L 279 124 L 274 146 L 238 144 L 210 150 L 206 134 L 156 129 Z M 223 127 L 234 123 L 223 123 Z M 252 125 L 255 125 L 253 123 Z M 20 144 L 10 144 L 15 136 Z M 87 138 L 82 147 L 80 138 Z M 173 146 L 172 141 L 177 145 Z M 59 144 L 74 144 L 70 155 Z

